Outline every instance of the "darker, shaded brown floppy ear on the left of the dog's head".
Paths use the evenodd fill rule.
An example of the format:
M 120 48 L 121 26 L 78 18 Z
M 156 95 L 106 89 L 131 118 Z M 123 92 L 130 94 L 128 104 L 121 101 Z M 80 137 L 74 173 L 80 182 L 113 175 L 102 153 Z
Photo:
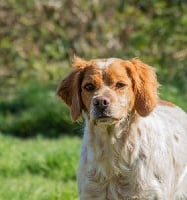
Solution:
M 83 71 L 88 62 L 74 57 L 73 60 L 73 71 L 61 81 L 57 88 L 57 95 L 70 107 L 71 117 L 76 121 L 82 111 L 82 100 L 81 100 L 81 81 L 83 77 Z

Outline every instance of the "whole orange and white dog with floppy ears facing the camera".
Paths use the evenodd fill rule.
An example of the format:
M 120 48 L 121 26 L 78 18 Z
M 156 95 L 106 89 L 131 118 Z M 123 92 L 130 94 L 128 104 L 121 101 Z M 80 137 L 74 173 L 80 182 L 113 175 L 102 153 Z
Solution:
M 73 66 L 57 94 L 85 119 L 80 199 L 187 199 L 187 114 L 158 98 L 154 69 L 137 58 Z

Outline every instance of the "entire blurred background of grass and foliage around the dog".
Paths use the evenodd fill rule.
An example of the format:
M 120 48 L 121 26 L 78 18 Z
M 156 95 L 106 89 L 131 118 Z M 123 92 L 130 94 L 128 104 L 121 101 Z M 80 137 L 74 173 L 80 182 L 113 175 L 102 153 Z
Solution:
M 0 200 L 77 199 L 82 125 L 55 95 L 74 54 L 139 57 L 161 98 L 187 111 L 186 10 L 185 0 L 0 0 Z

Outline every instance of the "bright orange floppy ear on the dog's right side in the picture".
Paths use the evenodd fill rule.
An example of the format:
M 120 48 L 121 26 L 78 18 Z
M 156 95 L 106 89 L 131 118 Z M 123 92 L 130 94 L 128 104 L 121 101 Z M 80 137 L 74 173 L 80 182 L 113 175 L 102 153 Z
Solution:
M 135 109 L 141 116 L 147 116 L 157 104 L 159 83 L 152 67 L 137 58 L 130 62 L 127 71 L 133 81 Z

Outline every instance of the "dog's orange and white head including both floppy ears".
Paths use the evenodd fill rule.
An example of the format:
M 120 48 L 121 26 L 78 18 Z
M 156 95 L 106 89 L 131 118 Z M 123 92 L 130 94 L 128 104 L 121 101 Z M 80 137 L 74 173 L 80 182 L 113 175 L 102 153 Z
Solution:
M 98 122 L 119 121 L 134 111 L 147 116 L 157 103 L 155 72 L 138 59 L 85 61 L 76 57 L 73 66 L 57 89 L 70 106 L 73 120 L 82 111 Z

